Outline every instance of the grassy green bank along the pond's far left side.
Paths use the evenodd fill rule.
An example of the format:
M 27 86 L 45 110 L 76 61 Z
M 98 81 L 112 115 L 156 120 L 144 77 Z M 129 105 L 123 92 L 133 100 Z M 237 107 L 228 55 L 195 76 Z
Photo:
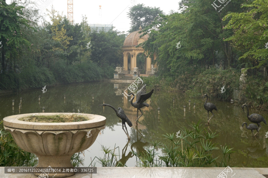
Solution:
M 94 62 L 82 62 L 66 65 L 62 60 L 55 61 L 50 69 L 32 64 L 21 69 L 20 73 L 7 71 L 0 74 L 1 90 L 23 90 L 42 88 L 45 85 L 91 82 L 113 77 L 114 67 L 100 68 Z

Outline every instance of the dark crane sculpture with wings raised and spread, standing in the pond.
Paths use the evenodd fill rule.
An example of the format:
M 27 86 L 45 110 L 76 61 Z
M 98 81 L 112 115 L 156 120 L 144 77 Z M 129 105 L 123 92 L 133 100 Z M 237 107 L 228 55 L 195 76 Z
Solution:
M 147 99 L 149 99 L 152 96 L 152 93 L 154 92 L 154 89 L 152 89 L 152 91 L 150 91 L 149 93 L 146 93 L 146 87 L 144 87 L 143 89 L 141 89 L 140 92 L 137 93 L 137 98 L 136 98 L 136 102 L 133 103 L 133 99 L 134 99 L 134 94 L 130 93 L 131 95 L 133 95 L 132 100 L 130 101 L 131 105 L 135 108 L 137 108 L 137 120 L 136 120 L 136 125 L 138 125 L 138 119 L 143 115 L 141 108 L 146 106 L 149 107 L 149 104 L 144 103 L 144 101 L 146 101 Z M 139 110 L 141 112 L 140 117 L 138 117 L 138 113 Z

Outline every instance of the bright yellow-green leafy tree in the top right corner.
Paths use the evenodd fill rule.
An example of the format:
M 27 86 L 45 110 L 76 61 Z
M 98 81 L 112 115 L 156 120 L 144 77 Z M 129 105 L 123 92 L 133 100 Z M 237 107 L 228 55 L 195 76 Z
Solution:
M 245 2 L 241 8 L 244 12 L 233 12 L 224 17 L 224 20 L 230 19 L 225 28 L 234 32 L 225 41 L 241 51 L 239 60 L 250 63 L 249 67 L 268 65 L 268 50 L 264 47 L 268 42 L 268 1 Z

